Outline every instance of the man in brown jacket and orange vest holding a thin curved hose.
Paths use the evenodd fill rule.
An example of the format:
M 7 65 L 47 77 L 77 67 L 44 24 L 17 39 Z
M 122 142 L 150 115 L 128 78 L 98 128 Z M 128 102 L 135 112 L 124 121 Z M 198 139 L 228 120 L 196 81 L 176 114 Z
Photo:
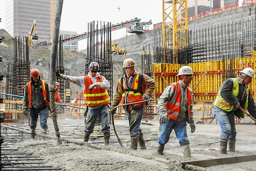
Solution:
M 116 105 L 121 102 L 131 103 L 149 99 L 156 83 L 149 76 L 135 71 L 135 62 L 131 58 L 123 61 L 124 75 L 118 80 L 113 100 L 110 106 L 110 113 L 114 114 Z M 137 144 L 140 149 L 146 149 L 143 133 L 140 128 L 142 114 L 144 113 L 145 102 L 125 105 L 124 110 L 129 120 L 130 148 L 136 150 Z

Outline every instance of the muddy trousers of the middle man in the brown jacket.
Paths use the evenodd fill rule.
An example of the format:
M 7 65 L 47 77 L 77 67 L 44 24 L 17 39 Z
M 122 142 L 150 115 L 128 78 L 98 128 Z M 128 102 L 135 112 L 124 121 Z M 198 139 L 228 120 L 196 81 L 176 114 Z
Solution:
M 140 128 L 142 114 L 144 113 L 144 106 L 134 108 L 130 111 L 125 111 L 129 120 L 130 137 L 138 137 L 142 135 Z

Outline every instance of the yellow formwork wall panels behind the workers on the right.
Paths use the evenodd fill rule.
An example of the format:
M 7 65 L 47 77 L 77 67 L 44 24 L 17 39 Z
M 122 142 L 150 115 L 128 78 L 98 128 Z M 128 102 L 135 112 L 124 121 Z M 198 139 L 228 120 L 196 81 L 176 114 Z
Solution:
M 244 57 L 244 58 L 233 58 L 227 60 L 214 60 L 207 62 L 198 62 L 198 63 L 189 63 L 188 65 L 193 69 L 194 75 L 189 87 L 193 90 L 196 84 L 200 81 L 203 74 L 207 72 L 204 77 L 201 79 L 197 87 L 193 91 L 193 99 L 194 100 L 209 100 L 214 101 L 216 98 L 216 94 L 218 93 L 219 86 L 224 81 L 223 78 L 223 66 L 225 65 L 225 72 L 227 72 L 227 68 L 232 67 L 233 71 L 235 71 L 236 76 L 239 74 L 239 70 L 241 68 L 246 67 L 247 63 L 249 67 L 253 67 L 254 71 L 254 62 L 256 58 L 256 52 L 252 51 L 252 57 Z M 231 60 L 231 61 L 230 61 Z M 171 64 L 171 63 L 153 63 L 152 71 L 153 78 L 156 81 L 155 94 L 156 99 L 158 99 L 159 95 L 162 93 L 164 88 L 167 86 L 164 79 L 167 83 L 173 83 L 178 81 L 178 77 L 176 74 L 178 73 L 179 68 L 183 66 L 181 64 Z M 164 79 L 162 78 L 162 76 Z M 255 99 L 256 94 L 254 93 L 256 88 L 255 78 L 252 79 L 251 83 L 249 83 L 248 87 L 252 92 L 252 96 Z

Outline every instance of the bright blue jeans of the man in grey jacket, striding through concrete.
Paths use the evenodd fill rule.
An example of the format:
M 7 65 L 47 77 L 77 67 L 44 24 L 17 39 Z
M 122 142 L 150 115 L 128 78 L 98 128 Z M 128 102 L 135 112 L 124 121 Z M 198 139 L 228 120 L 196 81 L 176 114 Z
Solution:
M 174 129 L 175 131 L 180 146 L 189 144 L 189 140 L 187 139 L 185 120 L 177 121 L 173 119 L 168 119 L 167 123 L 161 124 L 161 126 L 161 134 L 158 138 L 159 144 L 165 144 L 169 141 L 172 129 Z

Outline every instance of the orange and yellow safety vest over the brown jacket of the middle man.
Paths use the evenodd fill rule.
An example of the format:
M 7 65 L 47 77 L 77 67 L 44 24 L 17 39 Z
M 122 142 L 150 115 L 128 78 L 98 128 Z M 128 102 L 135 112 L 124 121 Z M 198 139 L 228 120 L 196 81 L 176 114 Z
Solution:
M 119 85 L 123 89 L 122 97 L 121 97 L 121 104 L 143 101 L 142 94 L 145 92 L 146 89 L 142 89 L 142 77 L 143 74 L 136 74 L 132 80 L 130 88 L 123 89 L 123 76 L 118 80 Z M 126 82 L 126 81 L 125 81 Z M 131 107 L 134 108 L 136 106 L 144 105 L 145 102 L 131 104 Z

